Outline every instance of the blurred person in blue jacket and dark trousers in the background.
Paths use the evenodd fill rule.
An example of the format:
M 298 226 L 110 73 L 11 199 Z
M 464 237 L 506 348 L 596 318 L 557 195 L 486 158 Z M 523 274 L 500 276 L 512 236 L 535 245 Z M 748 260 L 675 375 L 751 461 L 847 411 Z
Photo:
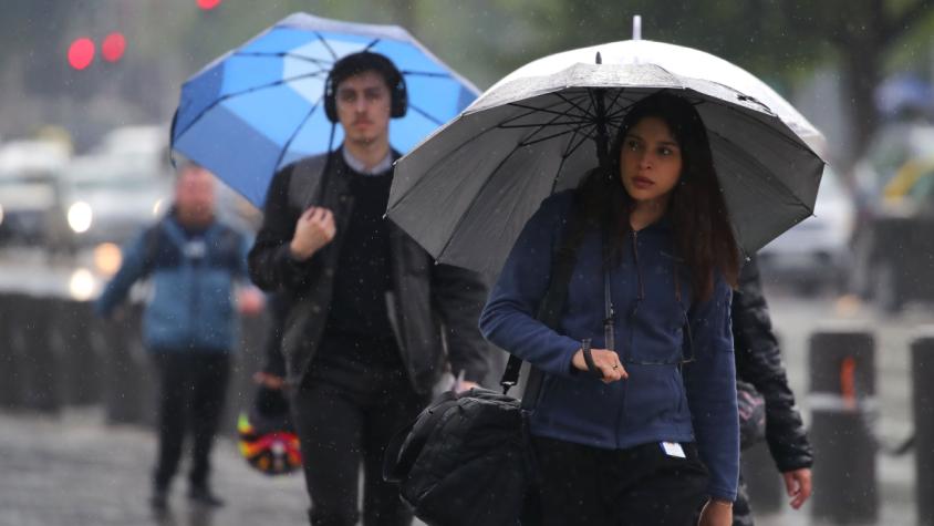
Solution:
M 194 439 L 189 498 L 222 504 L 208 484 L 210 450 L 238 338 L 235 281 L 248 280 L 248 249 L 243 235 L 215 217 L 214 176 L 186 163 L 179 168 L 174 205 L 124 249 L 120 270 L 97 299 L 97 312 L 110 318 L 134 282 L 152 280 L 143 342 L 159 373 L 159 447 L 151 498 L 157 510 L 168 506 L 186 434 Z M 259 308 L 255 301 L 240 305 L 248 303 Z

